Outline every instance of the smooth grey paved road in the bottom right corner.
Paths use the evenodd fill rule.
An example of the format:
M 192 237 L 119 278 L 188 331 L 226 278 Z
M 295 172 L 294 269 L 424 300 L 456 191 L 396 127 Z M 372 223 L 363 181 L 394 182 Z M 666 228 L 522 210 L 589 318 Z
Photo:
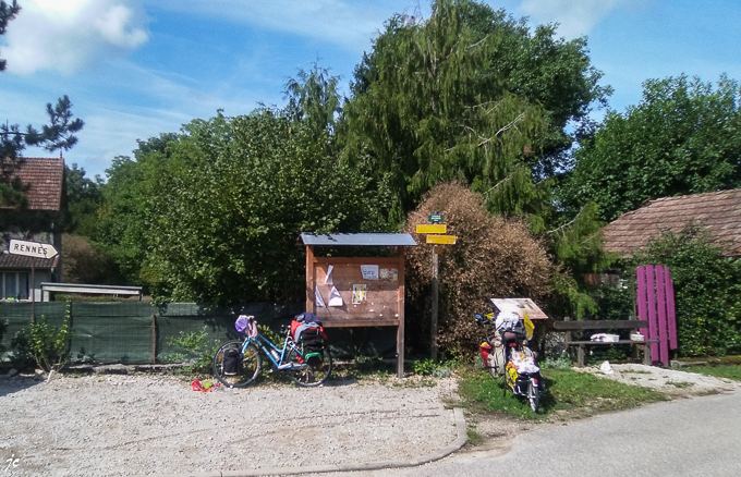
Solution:
M 518 436 L 505 455 L 460 453 L 420 467 L 347 475 L 741 476 L 741 392 L 538 426 Z

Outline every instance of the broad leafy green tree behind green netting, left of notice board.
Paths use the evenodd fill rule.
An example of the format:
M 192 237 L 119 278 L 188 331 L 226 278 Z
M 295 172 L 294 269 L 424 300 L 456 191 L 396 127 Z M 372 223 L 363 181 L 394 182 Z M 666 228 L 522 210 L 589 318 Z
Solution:
M 386 227 L 384 192 L 337 157 L 336 82 L 315 66 L 283 109 L 139 142 L 107 171 L 99 248 L 161 301 L 303 298 L 300 232 Z

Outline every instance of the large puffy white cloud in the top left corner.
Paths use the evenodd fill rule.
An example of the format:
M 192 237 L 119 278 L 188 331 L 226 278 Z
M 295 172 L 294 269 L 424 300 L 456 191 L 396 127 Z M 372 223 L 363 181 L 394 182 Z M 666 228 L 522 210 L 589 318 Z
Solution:
M 72 73 L 147 38 L 135 0 L 26 0 L 5 34 L 8 71 Z

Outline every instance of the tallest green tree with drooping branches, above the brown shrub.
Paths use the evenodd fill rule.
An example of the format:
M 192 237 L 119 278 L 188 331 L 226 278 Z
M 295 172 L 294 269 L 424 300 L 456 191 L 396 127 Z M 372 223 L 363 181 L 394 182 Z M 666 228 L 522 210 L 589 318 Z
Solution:
M 570 137 L 608 88 L 584 39 L 531 33 L 469 0 L 437 0 L 426 22 L 393 16 L 355 71 L 347 156 L 396 193 L 396 222 L 436 183 L 460 180 L 498 213 L 536 212 Z M 579 127 L 578 127 L 579 130 Z

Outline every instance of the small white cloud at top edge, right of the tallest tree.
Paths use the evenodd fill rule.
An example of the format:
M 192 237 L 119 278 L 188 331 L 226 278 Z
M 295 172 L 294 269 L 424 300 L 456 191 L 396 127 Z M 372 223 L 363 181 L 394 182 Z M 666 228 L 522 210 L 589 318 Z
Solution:
M 538 23 L 559 23 L 558 34 L 575 38 L 588 34 L 615 10 L 637 0 L 523 0 L 520 10 Z

